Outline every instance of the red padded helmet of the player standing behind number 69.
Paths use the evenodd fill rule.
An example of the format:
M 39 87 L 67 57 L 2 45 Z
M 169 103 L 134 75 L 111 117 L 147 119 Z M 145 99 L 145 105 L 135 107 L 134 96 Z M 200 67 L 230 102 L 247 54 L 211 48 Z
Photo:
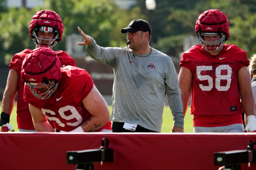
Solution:
M 53 32 L 55 37 L 52 40 L 39 38 L 38 31 Z M 52 47 L 62 40 L 63 24 L 59 15 L 50 10 L 42 10 L 32 17 L 29 27 L 29 36 L 38 47 Z M 40 40 L 47 40 L 49 43 L 41 44 Z

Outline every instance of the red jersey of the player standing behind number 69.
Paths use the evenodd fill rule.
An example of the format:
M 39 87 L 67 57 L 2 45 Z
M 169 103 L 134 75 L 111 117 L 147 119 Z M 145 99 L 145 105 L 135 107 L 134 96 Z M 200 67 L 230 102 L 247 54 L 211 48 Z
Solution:
M 28 103 L 23 99 L 24 93 L 24 79 L 21 77 L 21 66 L 25 56 L 31 53 L 31 49 L 24 49 L 20 53 L 15 54 L 12 57 L 9 69 L 17 71 L 18 80 L 18 95 L 17 95 L 17 128 L 26 130 L 35 130 L 31 114 L 29 112 Z M 62 65 L 73 65 L 76 66 L 75 61 L 64 51 L 55 51 L 55 54 L 59 57 Z

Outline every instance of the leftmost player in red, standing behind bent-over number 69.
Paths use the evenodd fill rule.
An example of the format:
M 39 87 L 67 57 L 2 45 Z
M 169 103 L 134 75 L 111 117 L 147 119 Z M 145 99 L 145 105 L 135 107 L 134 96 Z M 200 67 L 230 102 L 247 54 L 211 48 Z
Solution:
M 54 11 L 42 10 L 36 13 L 30 22 L 29 36 L 32 38 L 36 48 L 53 46 L 62 40 L 63 24 L 62 19 Z M 13 56 L 9 68 L 9 75 L 2 98 L 2 113 L 0 119 L 1 131 L 13 131 L 9 124 L 9 117 L 12 113 L 14 99 L 17 95 L 17 126 L 19 131 L 36 131 L 29 112 L 28 103 L 23 100 L 24 80 L 21 78 L 21 65 L 24 57 L 31 53 L 31 49 L 24 49 Z M 73 65 L 75 61 L 64 51 L 55 51 L 61 65 Z

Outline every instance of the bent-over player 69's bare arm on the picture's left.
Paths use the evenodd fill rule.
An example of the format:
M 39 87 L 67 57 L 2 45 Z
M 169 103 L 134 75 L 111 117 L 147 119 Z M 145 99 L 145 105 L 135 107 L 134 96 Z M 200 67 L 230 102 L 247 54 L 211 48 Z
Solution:
M 47 121 L 47 117 L 42 110 L 29 104 L 29 110 L 33 119 L 33 124 L 38 132 L 54 132 L 52 126 Z

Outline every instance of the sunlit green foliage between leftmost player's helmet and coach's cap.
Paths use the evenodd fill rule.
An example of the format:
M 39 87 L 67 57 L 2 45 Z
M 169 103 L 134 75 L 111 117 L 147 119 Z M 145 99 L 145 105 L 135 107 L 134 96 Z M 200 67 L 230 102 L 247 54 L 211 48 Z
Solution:
M 64 40 L 66 35 L 78 33 L 77 27 L 79 26 L 103 47 L 111 44 L 118 45 L 120 42 L 120 36 L 115 36 L 117 33 L 113 31 L 119 24 L 120 15 L 124 13 L 114 2 L 108 0 L 45 0 L 45 6 L 57 12 L 62 18 Z M 58 48 L 64 47 L 58 46 Z

